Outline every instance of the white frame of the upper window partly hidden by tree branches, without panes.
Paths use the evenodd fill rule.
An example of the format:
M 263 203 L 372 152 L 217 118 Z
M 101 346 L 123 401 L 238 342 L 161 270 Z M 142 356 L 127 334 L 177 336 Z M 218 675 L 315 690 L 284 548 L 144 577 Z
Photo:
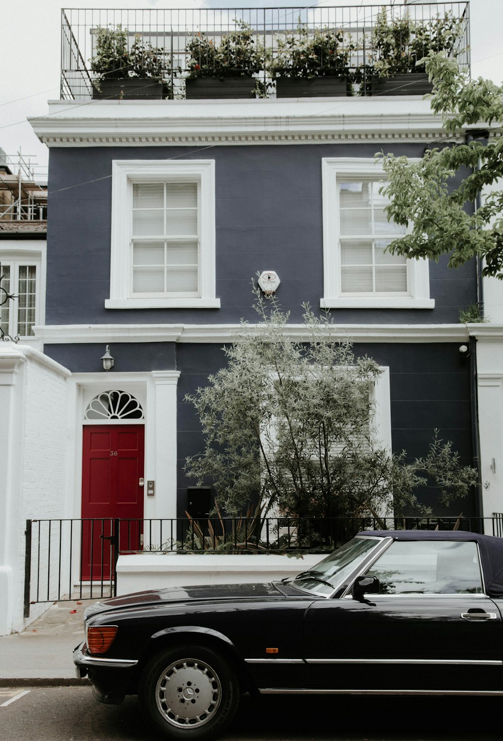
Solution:
M 410 162 L 419 162 L 410 159 Z M 407 296 L 344 296 L 341 286 L 340 264 L 340 214 L 337 183 L 342 178 L 382 178 L 386 173 L 382 162 L 373 158 L 326 157 L 322 159 L 323 197 L 323 283 L 324 295 L 320 301 L 323 309 L 332 308 L 397 308 L 433 309 L 430 299 L 430 267 L 427 259 L 407 259 Z

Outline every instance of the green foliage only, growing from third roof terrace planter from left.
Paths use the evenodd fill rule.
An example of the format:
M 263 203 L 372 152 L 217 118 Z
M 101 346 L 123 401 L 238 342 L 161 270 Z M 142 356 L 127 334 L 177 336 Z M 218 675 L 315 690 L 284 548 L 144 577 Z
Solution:
M 350 51 L 354 49 L 342 30 L 310 30 L 301 23 L 296 33 L 280 36 L 277 46 L 271 64 L 273 74 L 302 78 L 347 75 Z

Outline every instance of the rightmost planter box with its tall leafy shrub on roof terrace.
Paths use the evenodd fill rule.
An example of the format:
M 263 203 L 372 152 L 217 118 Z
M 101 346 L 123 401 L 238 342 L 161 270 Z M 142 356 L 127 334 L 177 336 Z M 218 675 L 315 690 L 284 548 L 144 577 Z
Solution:
M 360 70 L 364 94 L 425 95 L 431 93 L 422 61 L 430 49 L 453 53 L 462 25 L 452 13 L 413 21 L 408 13 L 388 21 L 386 9 L 376 16 L 371 37 L 370 65 Z

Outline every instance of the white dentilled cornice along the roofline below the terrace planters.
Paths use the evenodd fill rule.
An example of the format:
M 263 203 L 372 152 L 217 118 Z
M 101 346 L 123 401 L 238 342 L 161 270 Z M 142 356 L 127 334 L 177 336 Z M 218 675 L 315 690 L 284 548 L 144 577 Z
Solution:
M 419 96 L 250 101 L 50 102 L 29 119 L 48 146 L 424 141 L 445 137 Z

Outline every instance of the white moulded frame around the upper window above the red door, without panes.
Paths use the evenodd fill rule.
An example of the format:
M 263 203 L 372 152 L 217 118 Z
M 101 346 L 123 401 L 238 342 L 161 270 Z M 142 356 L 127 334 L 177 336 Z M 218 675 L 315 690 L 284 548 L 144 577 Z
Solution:
M 197 182 L 199 191 L 199 288 L 197 296 L 167 295 L 133 298 L 131 294 L 131 238 L 133 183 Z M 110 299 L 107 309 L 220 308 L 215 270 L 215 160 L 179 162 L 165 159 L 113 160 Z

